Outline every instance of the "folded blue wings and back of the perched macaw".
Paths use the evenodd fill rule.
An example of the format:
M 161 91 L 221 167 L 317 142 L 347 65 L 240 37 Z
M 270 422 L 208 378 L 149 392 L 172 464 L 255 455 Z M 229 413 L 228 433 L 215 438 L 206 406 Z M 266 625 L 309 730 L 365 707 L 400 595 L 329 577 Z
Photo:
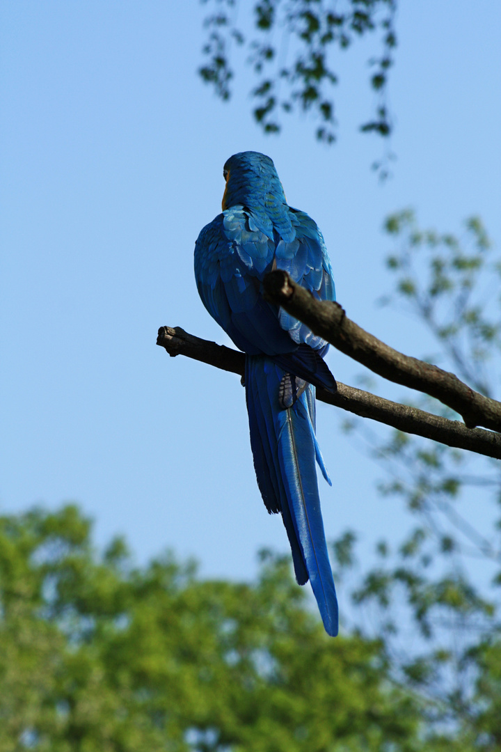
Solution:
M 234 206 L 204 227 L 196 243 L 195 277 L 201 299 L 245 352 L 273 355 L 291 352 L 300 344 L 322 350 L 322 355 L 327 350 L 321 337 L 282 309 L 264 302 L 259 291 L 261 278 L 275 260 L 278 268 L 285 268 L 322 299 L 333 295 L 330 264 L 320 231 L 307 214 L 297 212 L 292 216 L 295 236 L 285 241 L 273 229 L 266 235 L 249 211 Z M 252 229 L 255 227 L 258 229 Z M 283 333 L 276 327 L 277 317 Z M 304 371 L 297 375 L 307 378 Z M 317 384 L 329 388 L 327 384 Z M 335 388 L 332 379 L 330 388 Z

